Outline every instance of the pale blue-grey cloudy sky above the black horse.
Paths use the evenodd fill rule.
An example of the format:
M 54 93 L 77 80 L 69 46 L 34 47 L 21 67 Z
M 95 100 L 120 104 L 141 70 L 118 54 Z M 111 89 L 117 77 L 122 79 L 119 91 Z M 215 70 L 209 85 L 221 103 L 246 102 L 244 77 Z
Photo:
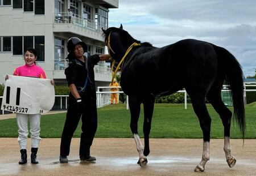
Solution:
M 119 0 L 110 9 L 109 27 L 156 47 L 185 38 L 212 42 L 228 49 L 247 76 L 256 68 L 255 0 Z

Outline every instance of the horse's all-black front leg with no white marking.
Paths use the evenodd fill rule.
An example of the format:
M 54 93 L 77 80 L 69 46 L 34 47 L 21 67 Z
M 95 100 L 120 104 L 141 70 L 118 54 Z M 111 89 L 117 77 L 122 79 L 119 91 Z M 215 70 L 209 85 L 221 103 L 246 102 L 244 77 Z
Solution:
M 143 133 L 144 133 L 144 156 L 148 156 L 150 153 L 149 147 L 149 134 L 151 130 L 151 120 L 154 111 L 155 97 L 148 95 L 143 100 L 144 106 L 144 122 L 143 122 Z

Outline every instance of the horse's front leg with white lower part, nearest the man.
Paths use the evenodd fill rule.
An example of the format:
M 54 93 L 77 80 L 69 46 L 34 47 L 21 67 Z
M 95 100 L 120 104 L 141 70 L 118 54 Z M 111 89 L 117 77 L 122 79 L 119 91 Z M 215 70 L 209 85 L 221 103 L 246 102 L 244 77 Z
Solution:
M 133 132 L 135 144 L 137 147 L 137 151 L 139 153 L 139 161 L 137 162 L 137 164 L 139 164 L 140 166 L 146 166 L 147 157 L 144 156 L 143 154 L 144 147 L 138 135 L 138 120 L 139 120 L 139 113 L 141 111 L 141 102 L 142 100 L 140 98 L 136 96 L 129 96 L 129 107 L 130 107 L 130 113 L 131 113 L 130 128 L 131 128 L 131 132 Z

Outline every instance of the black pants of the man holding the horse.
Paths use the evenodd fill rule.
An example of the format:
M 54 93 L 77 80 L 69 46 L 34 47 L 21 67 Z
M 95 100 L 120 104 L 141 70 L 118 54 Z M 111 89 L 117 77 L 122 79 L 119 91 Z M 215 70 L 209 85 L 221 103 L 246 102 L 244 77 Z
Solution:
M 90 146 L 92 145 L 94 135 L 97 130 L 97 106 L 96 98 L 82 97 L 85 102 L 85 109 L 78 109 L 77 102 L 72 95 L 69 95 L 69 106 L 63 132 L 61 135 L 60 155 L 68 156 L 70 144 L 73 134 L 82 119 L 82 133 L 80 138 L 80 156 L 88 156 L 90 154 Z

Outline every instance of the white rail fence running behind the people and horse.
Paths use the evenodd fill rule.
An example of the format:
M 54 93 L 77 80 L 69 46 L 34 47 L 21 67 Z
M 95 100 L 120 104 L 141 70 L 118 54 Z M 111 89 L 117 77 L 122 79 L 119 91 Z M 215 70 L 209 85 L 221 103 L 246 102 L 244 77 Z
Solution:
M 228 85 L 223 85 L 224 89 L 221 92 L 229 91 Z M 244 98 L 246 100 L 246 92 L 256 92 L 256 89 L 246 89 L 246 87 L 256 87 L 256 85 L 245 85 L 245 95 Z M 110 104 L 110 94 L 111 93 L 123 93 L 123 91 L 100 91 L 100 89 L 110 89 L 110 88 L 121 88 L 121 87 L 98 87 L 97 88 L 97 108 L 104 107 L 106 105 Z M 177 91 L 177 93 L 184 93 L 184 108 L 187 109 L 187 92 L 184 91 Z M 60 97 L 60 109 L 67 109 L 68 108 L 68 95 L 56 95 L 56 97 Z M 0 96 L 0 98 L 3 98 Z M 63 105 L 63 101 L 65 102 Z M 126 109 L 129 109 L 129 97 L 126 97 Z M 2 111 L 2 114 L 4 114 L 5 111 Z

